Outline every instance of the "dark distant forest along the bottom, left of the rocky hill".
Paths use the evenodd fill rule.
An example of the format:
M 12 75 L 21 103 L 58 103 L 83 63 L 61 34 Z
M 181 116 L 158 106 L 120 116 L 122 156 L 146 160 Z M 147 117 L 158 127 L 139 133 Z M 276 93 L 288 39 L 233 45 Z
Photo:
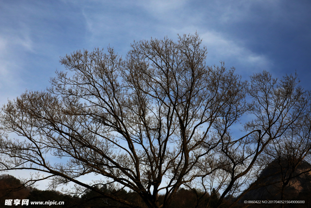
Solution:
M 138 202 L 143 206 L 143 201 L 140 197 L 132 192 L 126 190 L 121 190 L 116 192 L 111 190 L 106 186 L 101 187 L 105 192 L 118 195 L 119 197 Z M 215 191 L 215 190 L 213 190 Z M 163 200 L 164 196 L 160 196 L 160 200 Z M 171 208 L 179 207 L 194 207 L 197 205 L 197 197 L 195 192 L 192 190 L 186 190 L 180 188 L 178 194 L 174 197 L 174 201 L 170 205 Z M 81 196 L 70 196 L 64 195 L 60 191 L 52 190 L 39 190 L 36 188 L 25 187 L 22 185 L 21 181 L 11 175 L 2 174 L 0 176 L 0 208 L 9 207 L 5 206 L 6 199 L 29 199 L 29 201 L 64 201 L 64 205 L 29 205 L 28 206 L 14 206 L 14 207 L 78 207 L 78 208 L 95 208 L 95 207 L 126 207 L 115 201 L 111 201 L 108 198 L 102 198 L 99 194 L 91 190 L 86 190 Z M 219 193 L 214 194 L 213 197 L 210 194 L 205 194 L 200 200 L 200 205 L 198 207 L 207 207 L 207 202 L 209 202 L 209 207 L 214 207 L 219 199 Z

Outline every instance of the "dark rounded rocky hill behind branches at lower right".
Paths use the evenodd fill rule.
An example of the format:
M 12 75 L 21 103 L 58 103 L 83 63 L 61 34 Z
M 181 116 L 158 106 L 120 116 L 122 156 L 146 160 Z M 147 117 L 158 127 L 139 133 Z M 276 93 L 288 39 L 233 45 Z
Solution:
M 281 200 L 284 186 L 284 200 L 308 199 L 311 194 L 311 165 L 302 161 L 296 168 L 286 159 L 274 160 L 265 168 L 253 183 L 244 200 Z M 286 185 L 286 180 L 290 179 Z M 286 185 L 286 186 L 285 186 Z

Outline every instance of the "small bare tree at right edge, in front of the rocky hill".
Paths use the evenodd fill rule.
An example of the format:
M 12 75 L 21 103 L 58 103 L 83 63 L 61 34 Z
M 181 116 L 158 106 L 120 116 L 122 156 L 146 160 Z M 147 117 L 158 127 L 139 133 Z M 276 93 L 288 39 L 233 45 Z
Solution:
M 292 124 L 282 139 L 273 141 L 265 152 L 268 157 L 277 162 L 280 169 L 280 195 L 285 200 L 286 188 L 295 185 L 295 178 L 305 177 L 311 181 L 310 150 L 311 150 L 311 123 L 310 118 L 305 117 Z M 306 163 L 306 164 L 303 164 Z M 301 167 L 303 165 L 303 167 Z M 283 204 L 281 207 L 284 207 Z

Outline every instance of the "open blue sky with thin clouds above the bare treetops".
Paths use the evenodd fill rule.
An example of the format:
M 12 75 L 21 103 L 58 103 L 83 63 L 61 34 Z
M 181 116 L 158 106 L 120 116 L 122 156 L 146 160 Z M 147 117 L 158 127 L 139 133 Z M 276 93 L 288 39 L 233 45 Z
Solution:
M 126 56 L 133 40 L 177 40 L 197 31 L 207 64 L 234 66 L 243 79 L 297 71 L 311 89 L 311 1 L 0 0 L 0 104 L 44 90 L 59 57 L 110 44 Z

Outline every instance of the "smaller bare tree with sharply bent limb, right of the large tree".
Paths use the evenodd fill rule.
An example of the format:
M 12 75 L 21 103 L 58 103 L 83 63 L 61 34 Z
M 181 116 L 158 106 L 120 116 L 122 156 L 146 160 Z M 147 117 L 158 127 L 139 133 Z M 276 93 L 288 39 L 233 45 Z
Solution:
M 214 172 L 210 171 L 210 167 L 213 166 L 207 166 L 207 169 L 203 171 L 206 174 L 202 176 L 200 185 L 206 192 L 211 192 L 213 187 L 217 187 L 217 191 L 224 190 L 218 206 L 221 205 L 221 198 L 224 198 L 226 194 L 231 196 L 228 198 L 231 200 L 223 201 L 223 203 L 230 203 L 233 206 L 248 191 L 269 185 L 260 184 L 262 180 L 252 182 L 258 179 L 258 174 L 274 159 L 271 157 L 274 144 L 287 144 L 287 149 L 278 148 L 279 154 L 290 158 L 294 157 L 293 153 L 295 153 L 295 157 L 299 159 L 295 159 L 292 165 L 296 167 L 310 154 L 309 129 L 311 125 L 308 122 L 310 93 L 297 86 L 296 80 L 297 76 L 286 75 L 278 82 L 266 71 L 254 74 L 250 77 L 250 86 L 247 90 L 248 95 L 253 99 L 247 104 L 247 114 L 252 114 L 254 119 L 244 124 L 244 130 L 250 133 L 240 139 L 234 139 L 225 128 L 226 122 L 222 124 L 224 127 L 216 127 L 217 138 L 222 139 L 225 136 L 228 138 L 228 142 L 221 140 L 222 145 L 218 148 L 225 154 L 225 160 L 230 165 L 225 169 L 218 168 L 218 171 Z M 255 131 L 258 131 L 259 135 L 254 134 Z M 215 131 L 213 133 L 215 134 Z M 291 143 L 289 143 L 290 134 Z M 215 155 L 219 157 L 219 154 Z M 297 176 L 292 175 L 292 177 Z M 278 182 L 281 182 L 281 179 Z M 245 184 L 249 186 L 243 190 L 242 186 Z M 241 194 L 241 191 L 244 193 Z M 239 197 L 232 201 L 232 196 Z

